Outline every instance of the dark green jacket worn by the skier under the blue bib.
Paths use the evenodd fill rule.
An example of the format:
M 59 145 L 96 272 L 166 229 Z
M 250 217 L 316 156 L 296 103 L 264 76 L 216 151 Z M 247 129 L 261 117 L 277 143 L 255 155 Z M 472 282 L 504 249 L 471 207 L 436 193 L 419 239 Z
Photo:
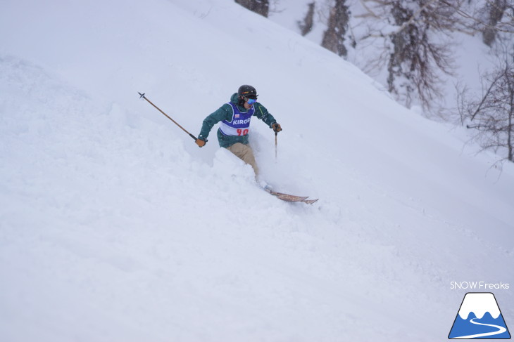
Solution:
M 234 93 L 230 97 L 230 102 L 234 103 L 234 105 L 237 105 L 237 93 Z M 258 119 L 261 119 L 265 122 L 270 128 L 272 124 L 275 124 L 277 120 L 268 112 L 266 107 L 261 105 L 261 103 L 254 103 L 253 107 L 255 108 L 255 113 L 253 114 L 254 117 L 257 117 Z M 247 112 L 245 107 L 237 105 L 237 108 L 241 112 Z M 203 120 L 203 124 L 201 126 L 200 135 L 198 136 L 201 140 L 207 140 L 207 137 L 209 136 L 209 133 L 211 133 L 211 129 L 215 124 L 218 124 L 218 122 L 227 120 L 232 120 L 232 107 L 228 103 L 225 103 L 225 105 L 222 105 L 218 110 L 213 112 L 213 114 L 209 115 L 208 117 Z M 221 147 L 229 147 L 231 145 L 234 145 L 235 143 L 242 143 L 244 145 L 248 144 L 248 135 L 246 136 L 225 136 L 225 134 L 221 133 L 221 131 L 218 129 L 218 142 L 220 143 Z

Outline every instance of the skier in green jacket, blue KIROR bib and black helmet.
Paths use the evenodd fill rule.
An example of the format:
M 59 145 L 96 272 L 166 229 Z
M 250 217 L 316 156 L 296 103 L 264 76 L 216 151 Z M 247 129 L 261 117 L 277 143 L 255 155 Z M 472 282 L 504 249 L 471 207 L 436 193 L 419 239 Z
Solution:
M 225 147 L 233 154 L 250 164 L 258 177 L 258 167 L 253 156 L 253 151 L 248 145 L 248 133 L 250 119 L 253 115 L 265 122 L 275 133 L 282 131 L 280 124 L 257 102 L 257 91 L 253 86 L 243 85 L 230 97 L 230 102 L 222 105 L 218 110 L 203 120 L 201 131 L 196 139 L 196 145 L 205 146 L 207 137 L 215 124 L 221 121 L 218 129 L 218 142 L 220 147 Z

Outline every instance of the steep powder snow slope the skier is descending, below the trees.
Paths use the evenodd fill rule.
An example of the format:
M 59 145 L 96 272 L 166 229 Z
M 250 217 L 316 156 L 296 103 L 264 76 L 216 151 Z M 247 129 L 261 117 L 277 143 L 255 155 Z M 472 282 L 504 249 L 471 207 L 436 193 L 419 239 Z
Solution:
M 436 341 L 514 283 L 514 169 L 232 1 L 4 1 L 1 341 Z M 252 84 L 263 178 L 194 134 Z M 509 266 L 510 265 L 510 266 Z M 511 290 L 494 292 L 507 324 Z

